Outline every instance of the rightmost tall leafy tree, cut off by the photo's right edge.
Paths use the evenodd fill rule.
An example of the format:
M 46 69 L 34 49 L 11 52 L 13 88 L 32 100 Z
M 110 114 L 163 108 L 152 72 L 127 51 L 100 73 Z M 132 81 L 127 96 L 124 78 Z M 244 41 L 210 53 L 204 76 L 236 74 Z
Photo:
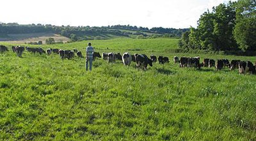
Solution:
M 236 7 L 235 40 L 243 51 L 256 51 L 256 1 L 240 0 Z

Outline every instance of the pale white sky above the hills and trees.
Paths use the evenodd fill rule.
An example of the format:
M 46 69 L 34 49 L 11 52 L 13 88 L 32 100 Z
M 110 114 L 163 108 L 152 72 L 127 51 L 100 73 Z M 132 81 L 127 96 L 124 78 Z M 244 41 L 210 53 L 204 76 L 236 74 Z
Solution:
M 235 1 L 235 0 L 231 0 Z M 70 26 L 196 27 L 200 15 L 228 0 L 4 0 L 0 22 Z

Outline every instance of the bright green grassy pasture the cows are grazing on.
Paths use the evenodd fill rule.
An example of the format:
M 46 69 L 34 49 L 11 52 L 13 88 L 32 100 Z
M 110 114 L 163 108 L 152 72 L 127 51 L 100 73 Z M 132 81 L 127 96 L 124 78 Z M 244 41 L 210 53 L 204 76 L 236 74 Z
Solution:
M 178 55 L 255 63 L 256 57 L 168 52 L 176 39 L 41 47 L 77 48 L 85 55 L 87 42 L 100 53 L 165 55 L 171 62 L 142 71 L 135 63 L 96 59 L 93 71 L 86 72 L 85 59 L 77 56 L 2 53 L 0 140 L 256 140 L 256 76 L 227 68 L 182 69 L 172 61 Z

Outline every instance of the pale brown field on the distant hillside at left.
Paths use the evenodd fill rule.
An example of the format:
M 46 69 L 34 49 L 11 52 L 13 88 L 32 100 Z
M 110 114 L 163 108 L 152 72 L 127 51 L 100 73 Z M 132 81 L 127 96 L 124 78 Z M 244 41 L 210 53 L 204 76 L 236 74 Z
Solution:
M 67 42 L 70 41 L 69 38 L 54 34 L 54 33 L 29 33 L 29 34 L 7 34 L 6 37 L 0 37 L 0 41 L 7 41 L 10 44 L 24 44 L 26 42 L 38 42 L 43 41 L 45 44 L 45 40 L 48 38 L 54 38 L 56 42 L 62 41 Z M 1 44 L 1 42 L 0 42 Z

